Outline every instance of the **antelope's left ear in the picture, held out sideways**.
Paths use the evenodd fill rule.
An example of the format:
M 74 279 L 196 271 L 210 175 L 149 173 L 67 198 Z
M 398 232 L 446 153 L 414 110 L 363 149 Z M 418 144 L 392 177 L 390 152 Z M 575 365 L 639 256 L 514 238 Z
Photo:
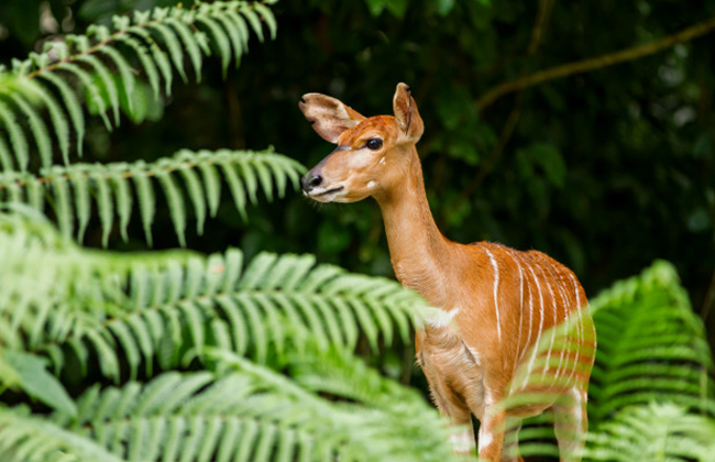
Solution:
M 338 144 L 338 138 L 364 117 L 341 101 L 320 94 L 304 95 L 299 102 L 302 114 L 324 140 Z

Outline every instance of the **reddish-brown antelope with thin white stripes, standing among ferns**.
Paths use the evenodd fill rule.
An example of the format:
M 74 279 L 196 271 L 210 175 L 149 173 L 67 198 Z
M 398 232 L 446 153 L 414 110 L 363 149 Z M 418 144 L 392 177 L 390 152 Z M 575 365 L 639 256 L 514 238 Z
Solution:
M 338 100 L 311 95 L 311 105 L 301 105 L 306 117 L 328 114 L 316 125 L 342 130 L 353 124 L 337 136 L 334 131 L 329 134 L 339 148 L 308 173 L 321 183 L 307 195 L 322 201 L 375 198 L 398 280 L 452 318 L 416 334 L 417 359 L 440 413 L 468 426 L 474 414 L 481 422 L 479 455 L 497 461 L 519 460 L 520 419 L 552 408 L 562 460 L 579 460 L 595 331 L 573 273 L 540 252 L 486 242 L 463 245 L 441 234 L 427 204 L 415 148 L 424 125 L 404 84 L 395 94 L 395 117 L 365 119 L 336 105 Z M 365 147 L 375 136 L 383 147 Z M 549 330 L 566 319 L 574 320 L 574 329 Z M 537 338 L 550 346 L 535 353 Z M 504 407 L 505 399 L 529 393 L 546 397 Z M 509 428 L 507 419 L 514 424 Z M 513 441 L 503 453 L 509 429 Z

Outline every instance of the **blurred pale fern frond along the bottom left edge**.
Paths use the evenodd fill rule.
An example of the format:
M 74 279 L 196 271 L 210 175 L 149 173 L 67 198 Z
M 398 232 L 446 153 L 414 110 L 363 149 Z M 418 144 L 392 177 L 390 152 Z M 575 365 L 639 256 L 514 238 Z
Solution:
M 221 354 L 220 361 L 232 371 L 222 376 L 166 373 L 145 385 L 92 387 L 78 399 L 76 418 L 55 413 L 35 438 L 48 435 L 51 450 L 80 461 L 105 455 L 82 450 L 103 450 L 102 460 L 110 461 L 459 460 L 427 403 L 410 403 L 411 417 L 419 419 L 410 422 L 391 416 L 404 408 L 399 403 L 382 403 L 383 409 L 342 406 L 238 356 Z M 0 451 L 16 454 L 33 442 L 44 443 L 25 432 L 34 420 L 22 409 L 0 409 Z M 58 435 L 67 437 L 61 448 L 53 438 Z

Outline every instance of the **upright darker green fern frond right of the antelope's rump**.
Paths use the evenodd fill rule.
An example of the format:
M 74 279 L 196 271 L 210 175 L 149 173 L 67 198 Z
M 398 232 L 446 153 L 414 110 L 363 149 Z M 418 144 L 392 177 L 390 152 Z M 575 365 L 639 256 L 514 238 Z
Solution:
M 592 306 L 600 344 L 591 381 L 592 421 L 651 400 L 715 416 L 704 328 L 672 265 L 656 262 L 601 294 Z

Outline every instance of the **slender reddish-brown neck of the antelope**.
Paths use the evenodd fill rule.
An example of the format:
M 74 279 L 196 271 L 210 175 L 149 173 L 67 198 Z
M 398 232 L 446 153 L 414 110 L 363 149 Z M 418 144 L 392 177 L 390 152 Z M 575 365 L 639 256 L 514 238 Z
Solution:
M 422 168 L 413 148 L 404 178 L 376 197 L 383 212 L 393 268 L 399 282 L 430 304 L 444 306 L 452 242 L 437 228 L 427 202 Z

